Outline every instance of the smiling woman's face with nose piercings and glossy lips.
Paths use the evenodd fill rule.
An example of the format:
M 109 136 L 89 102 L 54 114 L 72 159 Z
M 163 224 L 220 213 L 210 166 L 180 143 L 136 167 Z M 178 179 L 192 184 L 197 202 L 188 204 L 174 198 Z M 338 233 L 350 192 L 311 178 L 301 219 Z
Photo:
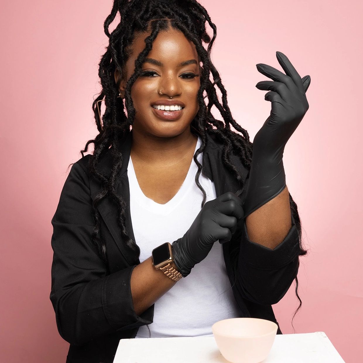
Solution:
M 135 60 L 145 47 L 144 38 L 149 34 L 140 33 L 135 37 L 124 78 L 119 86 L 122 97 L 125 95 L 126 81 L 135 71 Z M 187 64 L 183 65 L 182 62 L 186 61 Z M 132 128 L 159 137 L 180 135 L 186 130 L 189 132 L 189 125 L 199 110 L 197 93 L 200 87 L 200 69 L 193 42 L 173 28 L 160 31 L 141 68 L 143 73 L 131 87 L 131 98 L 136 110 Z M 116 71 L 115 81 L 117 76 Z M 162 95 L 159 94 L 160 90 Z M 155 104 L 178 105 L 178 101 L 183 105 L 180 111 L 168 112 L 153 107 Z

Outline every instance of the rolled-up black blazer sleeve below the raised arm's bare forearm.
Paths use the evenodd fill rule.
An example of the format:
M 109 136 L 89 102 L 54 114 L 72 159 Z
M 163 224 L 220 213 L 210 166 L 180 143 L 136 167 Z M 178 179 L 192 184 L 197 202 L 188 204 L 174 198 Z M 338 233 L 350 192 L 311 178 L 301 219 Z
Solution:
M 236 284 L 245 299 L 260 305 L 273 305 L 289 290 L 298 273 L 300 252 L 298 230 L 292 213 L 291 223 L 284 240 L 276 248 L 270 249 L 250 241 L 243 219 Z

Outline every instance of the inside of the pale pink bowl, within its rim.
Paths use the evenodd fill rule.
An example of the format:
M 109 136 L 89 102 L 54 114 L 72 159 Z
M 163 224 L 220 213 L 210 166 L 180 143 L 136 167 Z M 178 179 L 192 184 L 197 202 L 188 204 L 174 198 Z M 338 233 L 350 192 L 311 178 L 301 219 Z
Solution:
M 212 326 L 213 334 L 229 337 L 260 337 L 277 330 L 277 324 L 257 318 L 232 318 L 217 321 Z

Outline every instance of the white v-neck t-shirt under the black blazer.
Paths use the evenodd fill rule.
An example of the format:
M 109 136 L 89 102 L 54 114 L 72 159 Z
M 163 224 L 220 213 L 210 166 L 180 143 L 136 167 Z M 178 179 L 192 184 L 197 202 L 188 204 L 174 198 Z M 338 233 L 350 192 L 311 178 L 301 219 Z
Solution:
M 200 146 L 198 136 L 195 151 Z M 200 163 L 202 157 L 203 153 L 198 155 Z M 140 248 L 140 262 L 149 258 L 155 247 L 183 237 L 192 225 L 203 200 L 203 193 L 195 183 L 197 171 L 192 159 L 179 191 L 166 204 L 159 204 L 140 189 L 130 156 L 127 168 L 130 212 L 135 242 Z M 215 199 L 214 183 L 203 174 L 199 181 L 207 194 L 206 201 Z M 215 322 L 240 317 L 238 311 L 222 245 L 216 241 L 208 256 L 155 302 L 153 323 L 149 325 L 151 338 L 212 336 Z M 146 325 L 139 327 L 135 338 L 149 338 Z

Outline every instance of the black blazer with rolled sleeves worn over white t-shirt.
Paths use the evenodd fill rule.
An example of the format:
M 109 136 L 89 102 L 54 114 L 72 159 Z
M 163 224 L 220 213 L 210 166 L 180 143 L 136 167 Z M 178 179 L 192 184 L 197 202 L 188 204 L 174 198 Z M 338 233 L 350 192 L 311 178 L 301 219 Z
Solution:
M 127 132 L 119 144 L 123 165 L 116 189 L 126 201 L 126 226 L 129 236 L 135 240 L 127 177 L 131 142 L 132 131 Z M 223 145 L 215 136 L 208 135 L 202 172 L 215 183 L 217 197 L 238 190 L 237 180 L 223 164 L 222 150 Z M 241 196 L 244 200 L 248 171 L 236 155 L 232 155 L 231 160 L 245 180 Z M 111 161 L 107 153 L 98 164 L 98 170 L 108 175 Z M 100 182 L 89 176 L 89 155 L 86 155 L 72 165 L 52 219 L 54 253 L 50 300 L 59 334 L 70 343 L 66 362 L 111 363 L 120 339 L 134 338 L 139 326 L 153 322 L 155 304 L 140 315 L 134 311 L 130 277 L 140 261 L 123 243 L 117 205 L 107 197 L 98 205 L 102 216 L 98 237 L 106 242 L 107 264 L 90 243 L 94 227 L 92 202 L 100 188 Z M 292 215 L 291 221 L 289 233 L 273 250 L 250 241 L 245 222 L 240 233 L 223 244 L 224 261 L 241 317 L 277 323 L 271 305 L 285 295 L 298 272 L 299 238 Z M 236 246 L 238 268 L 234 276 L 229 252 Z M 282 334 L 280 327 L 278 334 Z

